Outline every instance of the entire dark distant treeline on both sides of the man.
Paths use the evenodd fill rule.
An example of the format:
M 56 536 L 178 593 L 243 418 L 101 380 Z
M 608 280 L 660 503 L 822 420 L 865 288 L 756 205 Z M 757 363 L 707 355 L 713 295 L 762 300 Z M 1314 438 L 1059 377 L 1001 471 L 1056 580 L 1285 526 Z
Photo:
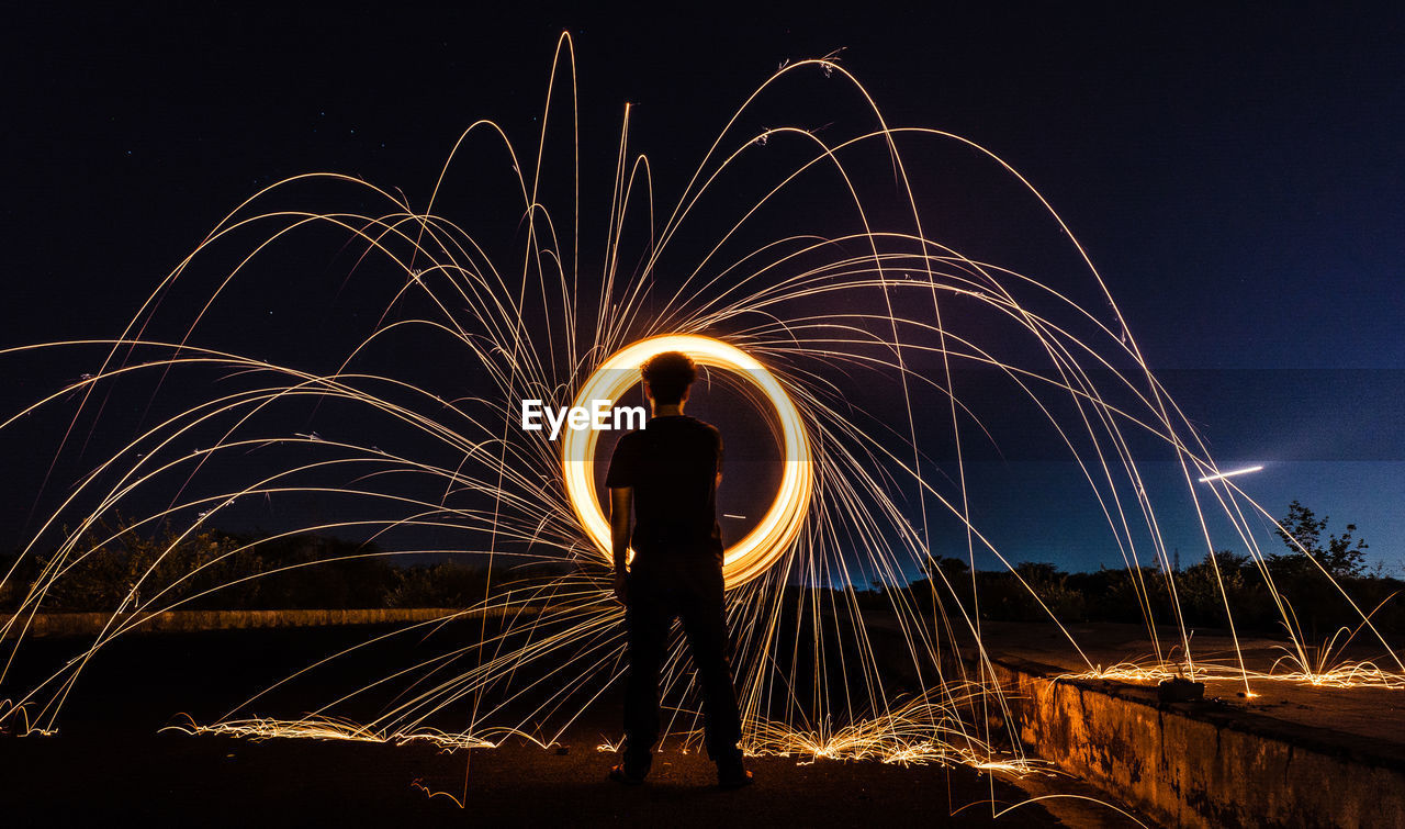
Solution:
M 933 597 L 948 601 L 954 592 L 968 610 L 978 607 L 982 618 L 1003 621 L 1052 615 L 1061 622 L 1141 622 L 1149 613 L 1158 624 L 1179 618 L 1190 627 L 1225 628 L 1232 613 L 1236 629 L 1260 634 L 1283 634 L 1287 615 L 1309 638 L 1354 628 L 1361 614 L 1371 614 L 1377 629 L 1405 632 L 1405 599 L 1398 596 L 1405 582 L 1367 572 L 1366 544 L 1353 537 L 1353 526 L 1340 537 L 1326 535 L 1326 518 L 1297 502 L 1283 526 L 1288 533 L 1280 533 L 1281 552 L 1253 561 L 1221 551 L 1169 579 L 1159 568 L 1068 573 L 1052 563 L 1027 562 L 1013 572 L 978 572 L 972 580 L 964 561 L 946 556 L 930 559 L 924 577 L 858 592 L 856 599 L 871 608 L 891 607 L 894 597 L 887 593 L 896 590 L 906 593 L 908 607 L 934 610 Z M 45 611 L 114 611 L 136 604 L 148 610 L 472 607 L 485 596 L 540 585 L 538 576 L 548 569 L 562 572 L 500 566 L 489 585 L 482 565 L 405 566 L 375 544 L 323 535 L 201 530 L 152 537 L 121 526 L 94 527 L 62 561 L 53 552 L 18 563 L 14 555 L 0 556 L 0 573 L 10 573 L 0 589 L 0 611 L 15 610 L 44 585 L 39 606 Z M 59 577 L 52 577 L 56 572 Z

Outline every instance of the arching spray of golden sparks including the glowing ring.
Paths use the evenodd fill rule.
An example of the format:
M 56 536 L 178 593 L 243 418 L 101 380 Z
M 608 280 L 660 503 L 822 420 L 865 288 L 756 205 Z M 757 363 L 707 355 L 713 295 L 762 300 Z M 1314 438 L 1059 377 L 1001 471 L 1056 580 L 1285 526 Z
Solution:
M 1005 704 L 981 637 L 979 562 L 1010 568 L 1051 621 L 1061 620 L 1013 569 L 1000 528 L 984 521 L 968 485 L 972 447 L 1002 437 L 988 423 L 989 402 L 964 389 L 972 370 L 996 378 L 998 406 L 1027 413 L 1078 466 L 1085 507 L 1106 521 L 1127 563 L 1155 652 L 1107 670 L 1089 662 L 1092 674 L 1235 676 L 1246 690 L 1263 679 L 1405 684 L 1398 660 L 1326 666 L 1308 656 L 1259 548 L 1255 527 L 1273 518 L 1229 479 L 1238 472 L 1218 469 L 1069 228 L 998 156 L 948 132 L 891 126 L 836 59 L 799 60 L 743 101 L 670 201 L 655 192 L 648 157 L 631 148 L 627 107 L 610 198 L 586 209 L 575 83 L 563 37 L 535 143 L 521 150 L 507 128 L 471 124 L 422 209 L 348 176 L 295 176 L 225 216 L 117 337 L 0 353 L 11 361 L 41 348 L 94 355 L 94 371 L 0 423 L 14 430 L 24 419 L 66 417 L 60 457 L 111 436 L 104 402 L 138 399 L 148 412 L 65 490 L 4 573 L 18 600 L 3 628 L 0 687 L 10 703 L 0 705 L 0 725 L 58 728 L 84 666 L 143 614 L 198 607 L 339 561 L 437 556 L 483 565 L 481 596 L 306 672 L 424 641 L 447 621 L 471 620 L 473 641 L 406 658 L 337 698 L 311 701 L 301 719 L 257 715 L 268 688 L 249 688 L 222 721 L 185 728 L 471 748 L 511 735 L 549 743 L 618 681 L 622 610 L 610 597 L 594 438 L 552 443 L 517 429 L 511 413 L 524 399 L 556 407 L 618 400 L 660 343 L 693 351 L 718 382 L 731 375 L 726 382 L 759 393 L 754 416 L 771 424 L 783 454 L 774 504 L 728 554 L 733 669 L 753 753 L 1030 767 L 1009 719 L 1003 733 L 992 725 Z M 799 83 L 828 84 L 826 100 L 846 100 L 857 125 L 754 126 L 767 100 Z M 830 121 L 823 115 L 818 122 Z M 1021 188 L 1071 246 L 1064 253 L 1078 266 L 1076 284 L 933 240 L 922 208 L 930 176 L 906 160 L 929 145 L 974 153 Z M 462 169 L 500 184 L 465 197 L 454 190 Z M 572 174 L 554 177 L 561 169 Z M 326 198 L 370 207 L 305 205 Z M 471 221 L 457 223 L 454 205 L 465 200 L 476 200 Z M 295 341 L 288 360 L 222 344 L 232 295 L 253 291 L 277 303 L 282 288 L 270 270 L 299 267 L 284 250 L 318 249 L 327 237 L 355 259 L 341 289 L 377 298 L 370 333 L 343 320 L 337 333 L 358 333 L 330 361 L 296 346 L 299 334 L 312 337 L 306 330 L 284 333 Z M 309 354 L 326 351 L 313 346 Z M 1161 504 L 1139 466 L 1148 444 L 1175 461 L 1204 551 L 1228 534 L 1259 565 L 1291 632 L 1283 670 L 1252 672 L 1242 656 L 1197 659 L 1176 603 Z M 1210 485 L 1208 497 L 1197 482 Z M 316 504 L 316 517 L 257 540 L 212 533 L 250 504 L 289 503 Z M 289 538 L 329 533 L 365 544 L 305 561 L 260 558 Z M 951 540 L 971 566 L 969 583 L 927 569 Z M 131 552 L 138 548 L 143 556 Z M 114 549 L 140 566 L 121 576 L 107 627 L 52 676 L 6 687 L 34 615 Z M 1138 563 L 1148 559 L 1154 572 Z M 930 575 L 920 590 L 874 599 L 853 589 L 903 585 L 920 572 Z M 1234 625 L 1218 570 L 1215 577 Z M 1172 597 L 1169 618 L 1154 606 L 1156 589 Z M 1390 651 L 1370 614 L 1356 632 Z M 974 646 L 974 659 L 957 658 L 960 642 Z M 676 714 L 667 729 L 687 740 L 698 731 L 698 705 L 679 639 L 670 653 L 665 696 Z M 378 705 L 371 721 L 340 714 L 365 700 Z M 445 729 L 447 721 L 466 725 Z

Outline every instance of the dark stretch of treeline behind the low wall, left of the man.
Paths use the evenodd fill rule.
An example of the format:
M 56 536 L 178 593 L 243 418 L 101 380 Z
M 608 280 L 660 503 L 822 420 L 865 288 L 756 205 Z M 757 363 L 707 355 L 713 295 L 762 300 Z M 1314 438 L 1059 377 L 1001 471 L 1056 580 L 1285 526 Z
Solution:
M 489 585 L 482 565 L 406 566 L 375 544 L 323 535 L 202 530 L 181 538 L 101 527 L 66 559 L 53 552 L 15 559 L 0 556 L 0 575 L 10 573 L 0 611 L 15 610 L 44 585 L 44 611 L 132 610 L 133 603 L 148 610 L 471 607 Z M 530 576 L 530 569 L 503 566 L 492 590 L 500 594 Z

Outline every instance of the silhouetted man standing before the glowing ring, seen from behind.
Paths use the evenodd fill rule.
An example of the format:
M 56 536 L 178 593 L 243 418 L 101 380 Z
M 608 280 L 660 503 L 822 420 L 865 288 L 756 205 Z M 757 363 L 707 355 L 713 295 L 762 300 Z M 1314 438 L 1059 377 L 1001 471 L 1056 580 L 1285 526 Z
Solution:
M 643 364 L 643 389 L 653 417 L 620 438 L 606 486 L 614 590 L 625 606 L 629 669 L 624 698 L 624 762 L 610 770 L 620 783 L 643 783 L 659 739 L 659 667 L 673 617 L 693 652 L 702 691 L 702 728 L 718 784 L 752 783 L 743 769 L 742 724 L 726 662 L 722 610 L 722 531 L 717 524 L 717 486 L 722 481 L 722 436 L 683 414 L 693 360 L 665 351 Z M 634 531 L 629 510 L 634 509 Z M 625 556 L 634 562 L 625 572 Z

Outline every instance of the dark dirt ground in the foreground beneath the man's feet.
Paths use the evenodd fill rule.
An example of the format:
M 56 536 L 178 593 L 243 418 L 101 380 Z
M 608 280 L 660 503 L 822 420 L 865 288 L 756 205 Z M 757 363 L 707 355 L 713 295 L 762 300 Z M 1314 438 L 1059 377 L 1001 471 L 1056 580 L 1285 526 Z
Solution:
M 0 815 L 13 826 L 504 825 L 504 826 L 1121 826 L 1080 799 L 1076 781 L 1016 785 L 968 767 L 878 762 L 752 762 L 757 784 L 715 787 L 714 769 L 676 746 L 642 787 L 606 780 L 618 701 L 601 698 L 542 749 L 440 752 L 343 740 L 254 742 L 160 732 L 180 712 L 212 721 L 251 688 L 305 665 L 308 655 L 364 641 L 367 631 L 153 634 L 131 637 L 84 672 L 55 736 L 0 736 Z M 25 644 L 24 665 L 55 665 L 74 642 Z M 348 667 L 347 670 L 354 670 Z M 13 674 L 0 698 L 38 674 Z M 347 677 L 322 676 L 329 691 Z M 299 694 L 326 698 L 305 684 Z M 298 700 L 270 698 L 296 715 Z M 1034 798 L 1058 794 L 1051 801 Z M 1020 805 L 1023 804 L 1023 805 Z M 1005 812 L 999 819 L 996 814 Z M 1048 808 L 1045 808 L 1048 807 Z

